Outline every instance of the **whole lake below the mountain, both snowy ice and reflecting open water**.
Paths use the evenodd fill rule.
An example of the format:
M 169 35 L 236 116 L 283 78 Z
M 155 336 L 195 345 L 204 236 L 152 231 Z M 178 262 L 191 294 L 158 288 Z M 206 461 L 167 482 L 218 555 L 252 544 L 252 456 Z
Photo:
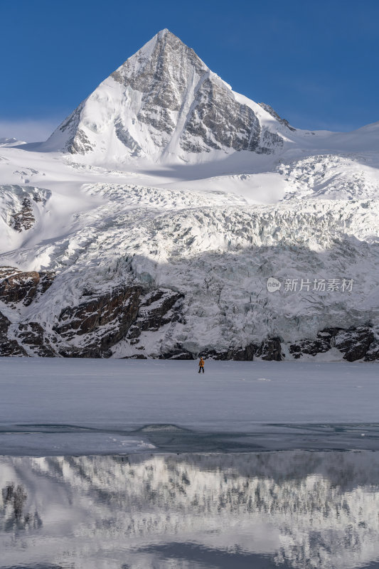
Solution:
M 377 370 L 0 358 L 0 568 L 378 569 Z

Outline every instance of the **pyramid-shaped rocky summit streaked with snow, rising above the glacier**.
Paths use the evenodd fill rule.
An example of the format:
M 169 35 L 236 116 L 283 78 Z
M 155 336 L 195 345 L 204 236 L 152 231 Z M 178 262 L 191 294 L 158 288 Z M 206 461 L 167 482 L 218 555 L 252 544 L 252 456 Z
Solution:
M 89 154 L 93 163 L 267 153 L 282 146 L 283 127 L 262 127 L 262 112 L 164 29 L 103 81 L 43 149 Z

